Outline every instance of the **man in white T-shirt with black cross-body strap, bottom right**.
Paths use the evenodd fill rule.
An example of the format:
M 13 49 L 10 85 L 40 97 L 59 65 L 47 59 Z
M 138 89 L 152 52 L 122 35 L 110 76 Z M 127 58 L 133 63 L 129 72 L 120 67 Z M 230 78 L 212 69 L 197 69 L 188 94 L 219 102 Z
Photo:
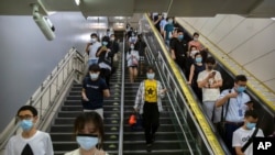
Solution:
M 245 111 L 244 124 L 233 132 L 232 146 L 237 155 L 253 155 L 252 139 L 264 137 L 263 131 L 256 128 L 257 118 L 254 110 Z

